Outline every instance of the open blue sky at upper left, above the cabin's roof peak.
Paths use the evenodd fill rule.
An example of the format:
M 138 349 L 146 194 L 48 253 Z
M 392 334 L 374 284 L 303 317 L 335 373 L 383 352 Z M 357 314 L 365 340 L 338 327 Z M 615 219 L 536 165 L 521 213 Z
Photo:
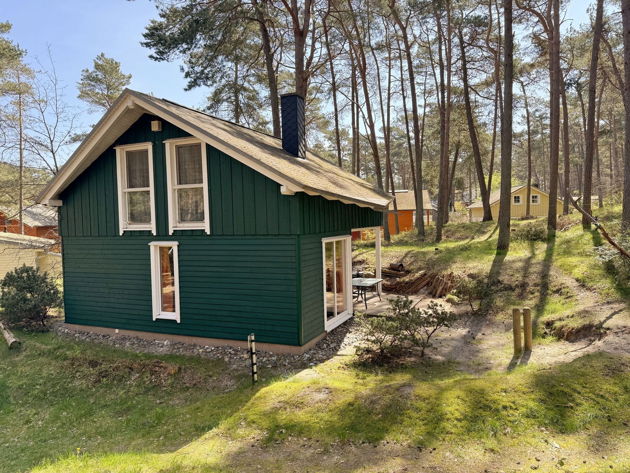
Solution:
M 186 105 L 203 103 L 207 91 L 185 92 L 178 64 L 155 62 L 140 46 L 145 26 L 157 18 L 155 4 L 149 0 L 3 0 L 3 4 L 0 21 L 12 23 L 9 37 L 30 57 L 45 60 L 45 45 L 50 44 L 57 74 L 67 84 L 67 98 L 73 105 L 84 106 L 76 100 L 75 83 L 101 52 L 132 74 L 130 88 Z

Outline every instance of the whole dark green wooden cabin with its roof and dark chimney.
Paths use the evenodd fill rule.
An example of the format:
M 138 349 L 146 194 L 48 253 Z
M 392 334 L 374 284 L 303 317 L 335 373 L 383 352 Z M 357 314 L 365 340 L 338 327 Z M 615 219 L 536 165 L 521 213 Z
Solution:
M 350 232 L 391 198 L 306 150 L 300 96 L 282 118 L 277 139 L 125 89 L 38 197 L 66 323 L 305 347 L 352 316 Z

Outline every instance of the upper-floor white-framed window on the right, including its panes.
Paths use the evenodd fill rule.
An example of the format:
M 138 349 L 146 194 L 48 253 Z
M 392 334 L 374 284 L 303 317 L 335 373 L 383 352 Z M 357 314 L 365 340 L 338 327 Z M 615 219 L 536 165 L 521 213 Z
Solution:
M 205 143 L 197 138 L 164 140 L 168 231 L 205 230 L 210 234 L 210 197 Z

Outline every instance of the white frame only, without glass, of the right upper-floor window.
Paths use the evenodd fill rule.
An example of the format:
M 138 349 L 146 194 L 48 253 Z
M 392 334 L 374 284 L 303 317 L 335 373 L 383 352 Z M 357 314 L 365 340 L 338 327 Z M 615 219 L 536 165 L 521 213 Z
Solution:
M 178 209 L 176 205 L 176 189 L 198 187 L 195 185 L 175 185 L 176 182 L 176 151 L 177 145 L 183 144 L 200 144 L 201 146 L 201 163 L 203 178 L 203 222 L 178 222 Z M 172 235 L 175 230 L 205 230 L 210 234 L 210 195 L 208 186 L 208 158 L 206 154 L 206 145 L 202 140 L 195 137 L 172 138 L 164 140 L 166 147 L 166 194 L 168 197 L 168 234 Z

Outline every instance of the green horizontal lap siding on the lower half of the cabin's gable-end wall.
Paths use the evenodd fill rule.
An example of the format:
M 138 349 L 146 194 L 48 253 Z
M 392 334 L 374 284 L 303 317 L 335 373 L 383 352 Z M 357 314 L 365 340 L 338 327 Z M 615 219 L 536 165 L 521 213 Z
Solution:
M 178 237 L 179 324 L 152 321 L 151 238 L 123 240 L 64 237 L 67 322 L 299 343 L 295 237 Z

